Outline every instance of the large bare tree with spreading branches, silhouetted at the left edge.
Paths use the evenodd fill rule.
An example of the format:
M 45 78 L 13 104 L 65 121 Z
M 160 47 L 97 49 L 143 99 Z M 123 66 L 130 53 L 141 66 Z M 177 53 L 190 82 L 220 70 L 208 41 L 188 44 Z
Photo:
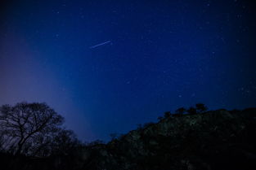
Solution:
M 2 146 L 12 149 L 15 155 L 27 155 L 30 150 L 46 145 L 63 121 L 46 103 L 3 105 L 0 107 L 0 133 L 5 139 Z

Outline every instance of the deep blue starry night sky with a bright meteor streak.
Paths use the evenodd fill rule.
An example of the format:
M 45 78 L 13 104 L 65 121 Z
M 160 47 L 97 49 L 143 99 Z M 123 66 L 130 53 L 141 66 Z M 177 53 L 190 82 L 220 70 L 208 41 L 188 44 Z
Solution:
M 164 111 L 256 105 L 254 0 L 0 2 L 0 104 L 47 102 L 83 141 Z

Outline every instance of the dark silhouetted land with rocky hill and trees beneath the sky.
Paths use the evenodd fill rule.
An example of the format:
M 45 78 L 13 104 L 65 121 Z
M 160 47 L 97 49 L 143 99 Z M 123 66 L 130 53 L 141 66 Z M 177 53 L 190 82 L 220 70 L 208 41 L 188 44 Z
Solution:
M 18 108 L 29 114 L 22 115 Z M 43 116 L 45 111 L 47 116 Z M 42 122 L 35 122 L 36 113 L 42 120 L 55 119 L 30 134 L 41 127 Z M 62 119 L 42 103 L 1 107 L 1 169 L 256 169 L 256 108 L 207 111 L 198 103 L 175 113 L 167 111 L 157 123 L 139 125 L 127 134 L 111 134 L 112 140 L 106 144 L 79 142 L 72 131 L 61 126 Z M 20 130 L 19 125 L 29 121 Z

